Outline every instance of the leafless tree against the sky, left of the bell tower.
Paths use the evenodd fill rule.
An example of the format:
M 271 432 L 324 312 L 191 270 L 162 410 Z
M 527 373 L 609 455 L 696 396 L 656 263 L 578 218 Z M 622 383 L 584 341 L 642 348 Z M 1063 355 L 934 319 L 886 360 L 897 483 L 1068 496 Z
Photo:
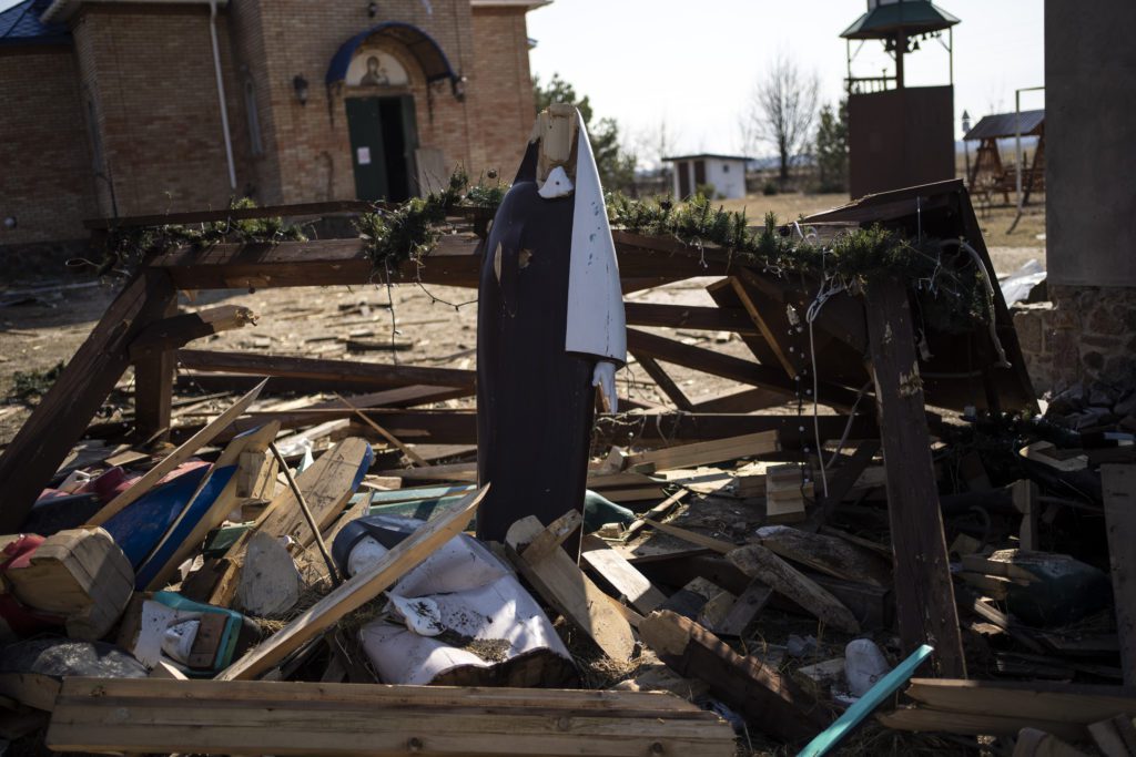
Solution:
M 812 140 L 819 90 L 815 72 L 802 72 L 796 61 L 779 52 L 750 94 L 742 118 L 743 145 L 765 143 L 777 150 L 783 186 L 788 180 L 790 161 Z

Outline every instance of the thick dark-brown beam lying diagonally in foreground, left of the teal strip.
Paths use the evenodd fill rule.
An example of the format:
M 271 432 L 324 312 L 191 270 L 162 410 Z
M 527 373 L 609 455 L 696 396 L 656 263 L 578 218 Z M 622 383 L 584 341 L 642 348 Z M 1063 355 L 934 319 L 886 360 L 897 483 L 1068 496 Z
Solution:
M 742 657 L 698 623 L 670 611 L 640 623 L 643 642 L 679 675 L 698 678 L 761 732 L 786 741 L 813 735 L 828 718 L 788 678 L 757 657 Z

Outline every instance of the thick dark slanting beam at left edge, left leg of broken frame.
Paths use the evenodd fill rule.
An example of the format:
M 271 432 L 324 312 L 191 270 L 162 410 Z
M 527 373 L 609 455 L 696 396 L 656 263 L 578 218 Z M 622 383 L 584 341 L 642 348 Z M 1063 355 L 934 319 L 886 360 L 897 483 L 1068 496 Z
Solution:
M 20 530 L 43 487 L 130 364 L 128 348 L 174 298 L 168 276 L 125 284 L 67 367 L 0 456 L 0 532 Z

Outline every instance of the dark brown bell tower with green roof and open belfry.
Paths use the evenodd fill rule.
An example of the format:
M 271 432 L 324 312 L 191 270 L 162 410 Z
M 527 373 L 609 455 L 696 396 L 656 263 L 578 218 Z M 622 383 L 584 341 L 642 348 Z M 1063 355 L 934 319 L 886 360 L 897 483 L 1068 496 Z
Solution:
M 841 34 L 847 41 L 849 190 L 853 197 L 954 178 L 952 27 L 958 23 L 927 0 L 868 0 L 867 12 Z M 853 60 L 872 40 L 892 58 L 892 72 L 853 76 Z M 947 84 L 908 86 L 904 57 L 939 47 L 947 53 Z

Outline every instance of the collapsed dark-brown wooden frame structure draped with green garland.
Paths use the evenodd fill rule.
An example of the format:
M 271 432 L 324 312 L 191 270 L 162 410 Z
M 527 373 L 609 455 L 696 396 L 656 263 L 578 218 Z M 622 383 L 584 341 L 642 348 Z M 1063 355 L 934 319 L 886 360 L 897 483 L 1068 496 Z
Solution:
M 195 212 L 118 219 L 114 224 L 92 221 L 89 226 L 97 234 L 103 234 L 111 225 L 147 226 L 268 215 L 318 216 L 357 212 L 361 210 L 359 204 Z M 392 271 L 392 276 L 398 281 L 476 287 L 486 220 L 484 211 L 476 210 L 452 219 L 454 233 L 442 236 L 421 266 L 406 262 Z M 977 247 L 986 275 L 994 280 L 974 210 L 960 180 L 871 195 L 845 208 L 813 216 L 807 222 L 822 234 L 838 233 L 850 226 L 883 224 L 912 237 L 962 237 Z M 615 238 L 625 293 L 699 276 L 725 278 L 709 288 L 717 308 L 627 303 L 627 322 L 633 327 L 628 329 L 629 351 L 670 398 L 676 412 L 655 409 L 600 417 L 598 437 L 620 444 L 637 441 L 661 446 L 777 429 L 786 451 L 782 454 L 792 457 L 800 456 L 802 447 L 815 444 L 818 431 L 824 440 L 840 438 L 845 429 L 851 438 L 879 438 L 883 429 L 897 575 L 922 571 L 918 565 L 930 554 L 937 577 L 930 580 L 929 594 L 903 596 L 900 592 L 904 645 L 914 648 L 927 639 L 937 639 L 944 672 L 962 674 L 954 600 L 945 573 L 942 520 L 927 453 L 929 438 L 924 394 L 929 404 L 954 410 L 972 405 L 997 412 L 1036 406 L 1017 335 L 997 288 L 994 288 L 993 303 L 994 333 L 1009 358 L 1009 369 L 999 367 L 991 333 L 977 327 L 964 334 L 921 328 L 920 336 L 929 356 L 925 354 L 921 361 L 916 360 L 912 328 L 919 325 L 912 323 L 910 313 L 905 312 L 909 283 L 891 284 L 878 301 L 877 293 L 869 292 L 867 308 L 862 297 L 847 292 L 828 300 L 812 323 L 811 353 L 816 354 L 819 389 L 816 399 L 847 413 L 858 405 L 862 387 L 874 382 L 879 421 L 878 424 L 874 422 L 863 409 L 866 403 L 860 403 L 863 405 L 860 417 L 850 421 L 838 415 L 820 418 L 813 429 L 811 422 L 803 424 L 794 417 L 753 413 L 803 396 L 799 395 L 803 387 L 810 387 L 805 392 L 811 392 L 809 371 L 813 367 L 809 333 L 801 327 L 801 319 L 819 281 L 799 276 L 778 277 L 737 262 L 727 250 L 696 247 L 674 238 L 626 232 L 616 232 Z M 974 264 L 969 258 L 955 262 Z M 287 386 L 293 387 L 390 392 L 382 402 L 358 411 L 327 407 L 250 413 L 236 424 L 237 429 L 269 419 L 278 420 L 282 428 L 298 428 L 358 418 L 356 413 L 361 412 L 395 437 L 411 443 L 475 444 L 474 413 L 415 409 L 416 404 L 436 402 L 437 397 L 469 396 L 474 389 L 473 371 L 182 348 L 201 336 L 199 321 L 202 319 L 186 321 L 185 317 L 174 314 L 178 289 L 358 285 L 371 280 L 371 262 L 365 242 L 359 238 L 223 243 L 207 249 L 167 250 L 151 256 L 125 284 L 0 457 L 0 491 L 3 493 L 0 525 L 6 532 L 20 528 L 40 490 L 49 483 L 67 452 L 84 435 L 99 406 L 132 363 L 136 369 L 135 438 L 169 434 L 174 367 L 179 363 L 197 371 L 234 375 L 249 380 L 269 376 L 273 380 L 291 381 Z M 755 360 L 684 345 L 636 328 L 660 326 L 734 331 Z M 908 350 L 907 353 L 895 352 L 894 345 L 882 340 L 884 330 L 895 333 L 896 328 L 905 329 L 897 333 L 905 345 L 900 346 Z M 144 335 L 149 336 L 143 338 Z M 910 343 L 904 335 L 910 335 Z M 140 344 L 145 348 L 139 348 Z M 685 365 L 752 388 L 698 406 L 670 380 L 662 363 Z M 916 387 L 918 392 L 911 389 L 909 367 L 912 364 L 917 381 L 921 373 L 921 382 Z M 896 387 L 904 389 L 900 393 L 902 401 L 895 398 Z M 811 397 L 805 401 L 811 404 Z M 367 431 L 366 428 L 361 430 Z M 904 541 L 911 535 L 918 538 Z M 917 542 L 918 549 L 914 548 Z M 935 562 L 939 558 L 942 562 Z M 900 583 L 897 581 L 897 592 Z M 904 607 L 910 609 L 905 617 Z M 937 620 L 933 621 L 932 616 Z M 953 637 L 947 631 L 950 626 L 955 630 Z

